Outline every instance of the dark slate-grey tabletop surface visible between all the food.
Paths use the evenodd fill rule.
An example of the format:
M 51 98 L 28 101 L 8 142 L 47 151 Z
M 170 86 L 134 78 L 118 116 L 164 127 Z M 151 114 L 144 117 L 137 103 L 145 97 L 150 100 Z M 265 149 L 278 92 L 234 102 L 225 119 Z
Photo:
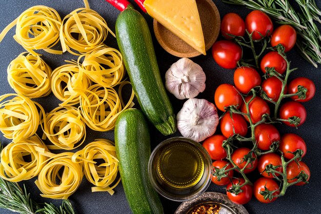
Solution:
M 131 1 L 133 2 L 133 1 Z M 294 1 L 293 1 L 294 2 Z M 318 7 L 321 7 L 321 1 L 316 0 Z M 223 4 L 221 1 L 214 1 L 218 10 L 220 11 L 221 17 L 227 12 L 237 12 L 243 18 L 245 18 L 248 10 L 244 9 L 244 7 L 240 6 L 230 6 Z M 117 14 L 119 13 L 112 6 L 108 5 L 104 0 L 89 0 L 89 4 L 91 9 L 96 10 L 100 13 L 107 21 L 109 27 L 114 31 L 115 29 L 115 20 Z M 39 1 L 25 1 L 25 0 L 6 0 L 2 1 L 2 10 L 0 10 L 0 30 L 4 29 L 10 22 L 12 22 L 19 14 L 21 14 L 24 10 L 28 9 L 34 5 L 46 5 L 49 7 L 55 8 L 58 13 L 63 18 L 66 14 L 71 12 L 72 10 L 84 7 L 83 1 L 81 0 L 72 0 L 72 1 L 63 1 L 63 0 L 39 0 Z M 137 6 L 135 6 L 138 9 Z M 152 30 L 152 18 L 145 15 L 146 20 Z M 320 28 L 320 25 L 318 25 Z M 7 36 L 4 38 L 3 42 L 0 44 L 0 94 L 12 93 L 14 92 L 8 82 L 7 82 L 7 66 L 18 54 L 24 51 L 24 49 L 18 45 L 14 39 L 14 29 L 10 30 Z M 153 36 L 153 31 L 152 31 Z M 159 69 L 162 74 L 163 80 L 166 70 L 170 67 L 170 65 L 176 62 L 179 58 L 174 57 L 164 51 L 159 44 L 156 42 L 155 37 L 153 36 L 154 47 L 156 51 L 156 57 L 159 64 Z M 108 36 L 107 41 L 105 42 L 107 45 L 111 47 L 116 46 L 116 40 L 111 35 Z M 62 64 L 64 64 L 64 60 L 76 59 L 76 56 L 71 54 L 63 54 L 63 55 L 53 55 L 48 54 L 42 51 L 38 51 L 43 53 L 43 59 L 54 69 Z M 210 51 L 207 52 L 206 56 L 197 56 L 192 60 L 198 63 L 203 67 L 206 75 L 206 89 L 203 93 L 199 94 L 197 98 L 204 98 L 210 102 L 214 102 L 214 90 L 215 88 L 222 83 L 233 83 L 233 71 L 222 69 L 213 61 Z M 267 214 L 267 213 L 321 213 L 321 205 L 320 205 L 320 190 L 319 184 L 321 183 L 321 177 L 319 176 L 319 172 L 321 171 L 320 166 L 320 155 L 321 155 L 321 144 L 319 143 L 319 139 L 321 138 L 321 125 L 320 125 L 320 110 L 321 105 L 319 105 L 321 101 L 320 96 L 320 87 L 321 82 L 321 69 L 314 68 L 312 65 L 308 64 L 302 57 L 299 56 L 296 50 L 292 50 L 288 53 L 289 60 L 292 61 L 292 67 L 298 67 L 298 70 L 291 74 L 290 79 L 293 79 L 296 76 L 307 76 L 310 79 L 314 80 L 316 85 L 316 94 L 315 98 L 308 103 L 304 103 L 303 105 L 306 107 L 308 116 L 307 121 L 304 125 L 300 126 L 298 129 L 289 128 L 284 125 L 278 125 L 278 129 L 281 133 L 293 132 L 299 134 L 307 143 L 308 151 L 306 157 L 304 157 L 304 162 L 310 167 L 311 170 L 311 179 L 310 184 L 305 185 L 303 187 L 291 187 L 287 190 L 286 196 L 277 199 L 272 204 L 260 204 L 254 198 L 250 201 L 250 203 L 246 204 L 245 207 L 251 214 Z M 169 95 L 174 106 L 174 111 L 177 113 L 179 109 L 182 107 L 184 101 L 178 101 L 175 99 L 173 95 Z M 36 99 L 39 103 L 43 105 L 45 110 L 48 112 L 54 107 L 56 107 L 59 101 L 51 94 L 47 98 Z M 137 107 L 137 105 L 136 105 Z M 151 129 L 151 146 L 154 148 L 159 142 L 162 140 L 169 138 L 165 137 L 156 131 L 150 125 Z M 176 132 L 174 135 L 179 135 Z M 88 130 L 86 142 L 91 142 L 96 138 L 107 138 L 113 140 L 113 132 L 94 132 Z M 10 140 L 0 137 L 0 141 L 3 144 L 8 144 Z M 253 174 L 255 177 L 256 174 Z M 23 182 L 26 184 L 27 190 L 31 192 L 32 197 L 39 202 L 53 202 L 55 204 L 60 204 L 61 201 L 51 201 L 48 199 L 44 199 L 39 196 L 39 190 L 36 188 L 34 184 L 34 180 Z M 90 190 L 90 183 L 87 182 L 86 179 L 83 180 L 81 187 L 69 198 L 72 202 L 75 210 L 79 214 L 90 214 L 90 213 L 131 213 L 129 206 L 127 204 L 125 194 L 122 188 L 122 185 L 118 185 L 115 189 L 115 193 L 113 196 L 110 196 L 107 192 L 95 192 L 92 193 Z M 223 187 L 211 186 L 208 188 L 208 191 L 218 191 L 225 192 Z M 171 202 L 164 198 L 161 198 L 162 203 L 164 205 L 164 210 L 166 214 L 174 213 L 176 208 L 180 203 Z M 12 213 L 8 210 L 0 209 L 0 213 L 9 214 Z

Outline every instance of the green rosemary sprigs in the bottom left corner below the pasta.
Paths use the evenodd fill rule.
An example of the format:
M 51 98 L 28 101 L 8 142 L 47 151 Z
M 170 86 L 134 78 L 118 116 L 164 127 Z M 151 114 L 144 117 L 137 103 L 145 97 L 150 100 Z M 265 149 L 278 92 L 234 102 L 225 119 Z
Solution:
M 2 147 L 0 147 L 0 152 Z M 1 160 L 0 160 L 1 161 Z M 9 209 L 21 214 L 75 214 L 69 200 L 63 200 L 61 206 L 52 203 L 40 204 L 30 198 L 26 187 L 22 190 L 17 183 L 9 182 L 0 177 L 0 208 Z

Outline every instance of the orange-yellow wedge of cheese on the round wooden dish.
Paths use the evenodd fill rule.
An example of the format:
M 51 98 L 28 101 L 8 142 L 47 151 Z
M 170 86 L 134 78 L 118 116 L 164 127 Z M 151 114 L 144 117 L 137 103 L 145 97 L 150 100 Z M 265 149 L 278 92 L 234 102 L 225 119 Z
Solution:
M 145 0 L 144 6 L 157 22 L 206 55 L 204 35 L 195 0 Z

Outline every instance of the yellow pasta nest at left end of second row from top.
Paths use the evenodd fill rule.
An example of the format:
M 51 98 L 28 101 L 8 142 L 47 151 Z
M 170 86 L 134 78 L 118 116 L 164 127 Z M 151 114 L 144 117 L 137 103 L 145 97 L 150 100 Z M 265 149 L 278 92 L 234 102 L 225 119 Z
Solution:
M 24 52 L 9 64 L 8 82 L 18 94 L 41 98 L 51 93 L 51 72 L 39 55 Z

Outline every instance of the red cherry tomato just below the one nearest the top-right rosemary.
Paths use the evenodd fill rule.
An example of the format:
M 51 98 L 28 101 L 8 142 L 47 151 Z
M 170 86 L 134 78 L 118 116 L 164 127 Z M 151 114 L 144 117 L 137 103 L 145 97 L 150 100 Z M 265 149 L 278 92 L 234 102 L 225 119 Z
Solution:
M 277 51 L 271 51 L 265 54 L 261 60 L 260 68 L 263 71 L 263 73 L 266 72 L 265 68 L 274 67 L 274 70 L 278 72 L 279 74 L 283 74 L 287 70 L 287 61 L 278 54 Z

